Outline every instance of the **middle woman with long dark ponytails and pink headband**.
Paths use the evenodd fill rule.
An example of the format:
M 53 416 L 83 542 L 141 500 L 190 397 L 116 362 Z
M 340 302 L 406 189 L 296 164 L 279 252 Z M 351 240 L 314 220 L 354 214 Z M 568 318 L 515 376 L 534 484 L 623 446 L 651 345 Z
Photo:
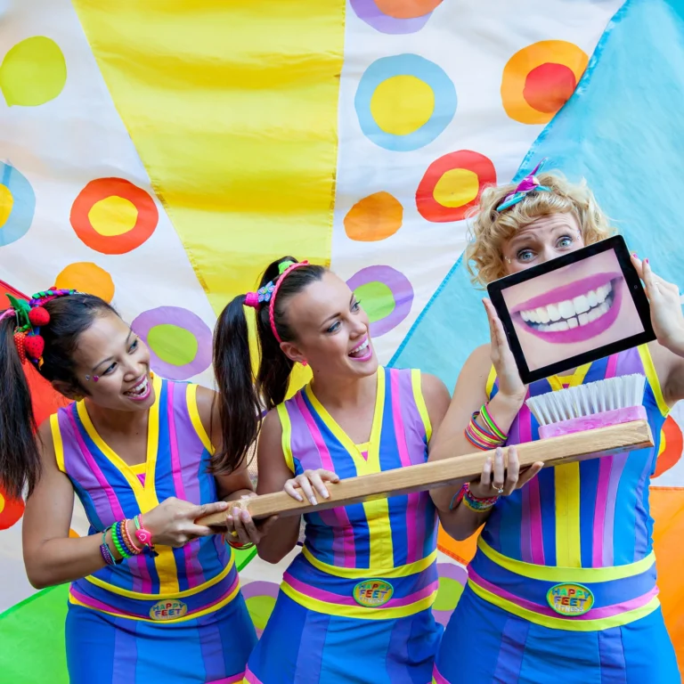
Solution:
M 246 307 L 256 309 L 256 379 Z M 315 504 L 338 477 L 428 459 L 449 403 L 446 387 L 419 371 L 380 367 L 368 315 L 322 266 L 291 256 L 274 262 L 256 292 L 224 309 L 215 343 L 224 449 L 214 467 L 236 468 L 258 435 L 257 493 L 284 488 Z M 297 362 L 314 379 L 285 401 Z M 305 523 L 304 549 L 284 575 L 245 681 L 428 682 L 441 634 L 430 611 L 437 569 L 429 494 L 322 510 Z M 280 561 L 299 527 L 298 517 L 275 522 L 259 556 Z

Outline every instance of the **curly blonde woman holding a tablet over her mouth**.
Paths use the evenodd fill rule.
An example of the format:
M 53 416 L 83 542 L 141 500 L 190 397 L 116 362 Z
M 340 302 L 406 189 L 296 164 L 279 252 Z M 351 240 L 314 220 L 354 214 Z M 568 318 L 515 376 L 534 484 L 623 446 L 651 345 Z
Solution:
M 483 193 L 467 255 L 477 285 L 611 233 L 586 185 L 535 171 Z M 430 460 L 538 439 L 526 397 L 630 373 L 647 377 L 643 403 L 657 442 L 667 412 L 684 397 L 684 320 L 678 289 L 647 259 L 634 256 L 633 264 L 657 341 L 529 387 L 485 300 L 491 344 L 477 348 L 460 372 Z M 619 306 L 619 297 L 604 301 Z M 648 513 L 658 446 L 541 471 L 535 464 L 520 474 L 507 472 L 498 452 L 481 480 L 432 493 L 454 538 L 485 525 L 436 658 L 437 684 L 680 681 L 657 599 Z

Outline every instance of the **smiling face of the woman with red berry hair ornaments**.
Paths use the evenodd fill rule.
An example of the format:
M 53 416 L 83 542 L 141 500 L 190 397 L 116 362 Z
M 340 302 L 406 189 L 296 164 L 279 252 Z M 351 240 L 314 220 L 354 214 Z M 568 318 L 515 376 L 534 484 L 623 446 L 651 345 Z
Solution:
M 78 338 L 74 362 L 77 378 L 98 406 L 146 411 L 154 403 L 150 351 L 118 315 L 95 316 Z

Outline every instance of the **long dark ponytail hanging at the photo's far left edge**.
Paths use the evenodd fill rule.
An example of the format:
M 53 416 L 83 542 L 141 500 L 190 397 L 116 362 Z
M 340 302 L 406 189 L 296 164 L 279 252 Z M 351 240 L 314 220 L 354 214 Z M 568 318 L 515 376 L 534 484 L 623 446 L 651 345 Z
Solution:
M 25 487 L 30 494 L 40 476 L 36 418 L 14 344 L 16 325 L 13 316 L 0 321 L 0 484 L 12 499 Z

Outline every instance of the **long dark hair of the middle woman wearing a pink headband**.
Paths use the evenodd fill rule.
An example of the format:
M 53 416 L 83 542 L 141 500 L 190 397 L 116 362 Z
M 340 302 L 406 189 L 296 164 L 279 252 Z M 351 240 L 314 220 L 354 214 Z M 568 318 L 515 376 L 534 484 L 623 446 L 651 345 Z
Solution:
M 278 281 L 281 264 L 297 263 L 292 256 L 283 256 L 269 265 L 259 287 Z M 302 265 L 291 271 L 280 283 L 275 300 L 273 319 L 283 342 L 296 338 L 290 329 L 287 301 L 314 281 L 322 279 L 325 268 Z M 240 467 L 256 440 L 265 411 L 270 411 L 285 400 L 289 378 L 294 367 L 273 335 L 269 306 L 264 302 L 256 309 L 256 336 L 259 345 L 259 369 L 256 379 L 252 372 L 249 348 L 245 295 L 234 297 L 216 322 L 214 333 L 214 371 L 219 389 L 222 448 L 214 454 L 211 470 L 230 473 Z

